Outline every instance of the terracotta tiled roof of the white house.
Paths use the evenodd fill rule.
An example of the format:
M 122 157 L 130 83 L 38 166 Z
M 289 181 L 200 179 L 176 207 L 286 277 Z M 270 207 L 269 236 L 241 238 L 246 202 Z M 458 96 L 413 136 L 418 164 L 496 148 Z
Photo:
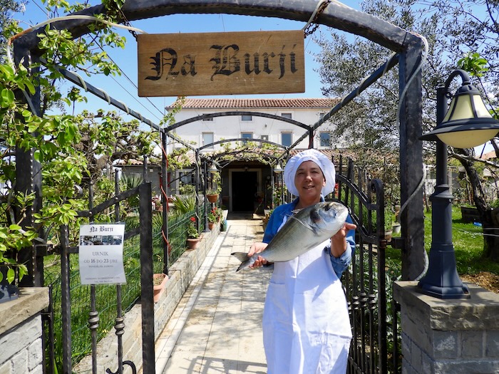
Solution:
M 185 99 L 183 109 L 248 109 L 248 108 L 332 108 L 339 99 L 290 98 L 290 99 Z M 173 103 L 167 109 L 173 108 Z

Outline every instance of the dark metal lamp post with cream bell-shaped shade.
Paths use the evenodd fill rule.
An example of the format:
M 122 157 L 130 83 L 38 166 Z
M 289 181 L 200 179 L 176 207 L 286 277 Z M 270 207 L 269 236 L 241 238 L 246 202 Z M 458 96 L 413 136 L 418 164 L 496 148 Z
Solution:
M 449 85 L 456 76 L 463 83 L 451 97 Z M 470 84 L 465 71 L 456 70 L 437 88 L 436 128 L 421 140 L 436 141 L 436 187 L 430 197 L 432 242 L 426 275 L 419 281 L 423 294 L 437 298 L 469 298 L 468 287 L 458 276 L 456 254 L 452 243 L 452 200 L 447 177 L 447 145 L 470 148 L 483 144 L 499 132 L 480 96 Z

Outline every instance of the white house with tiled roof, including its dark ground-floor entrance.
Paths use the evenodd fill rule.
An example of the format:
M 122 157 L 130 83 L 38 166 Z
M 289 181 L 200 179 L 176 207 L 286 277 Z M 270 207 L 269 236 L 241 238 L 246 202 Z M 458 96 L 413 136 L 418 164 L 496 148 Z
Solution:
M 309 148 L 312 140 L 312 147 L 330 150 L 331 124 L 321 125 L 312 136 L 309 128 L 336 103 L 338 100 L 326 98 L 187 98 L 175 115 L 176 124 L 171 133 L 200 148 L 200 152 L 220 151 L 229 139 L 264 140 L 284 147 L 293 146 L 294 150 Z M 172 110 L 174 105 L 167 110 Z M 298 142 L 297 145 L 295 142 Z M 168 151 L 176 147 L 183 145 L 172 141 Z M 235 146 L 232 145 L 232 148 Z M 190 182 L 187 175 L 180 178 L 187 172 L 178 170 L 177 175 L 170 175 L 171 192 L 179 191 L 180 181 Z M 221 175 L 220 201 L 231 212 L 262 211 L 272 204 L 269 196 L 272 169 L 269 165 L 234 161 L 222 169 Z

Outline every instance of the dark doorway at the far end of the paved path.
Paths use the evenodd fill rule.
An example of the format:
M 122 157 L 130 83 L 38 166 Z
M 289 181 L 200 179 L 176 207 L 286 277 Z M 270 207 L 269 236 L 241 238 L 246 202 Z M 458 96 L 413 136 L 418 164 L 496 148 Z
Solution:
M 257 172 L 232 172 L 232 212 L 252 212 L 257 191 Z

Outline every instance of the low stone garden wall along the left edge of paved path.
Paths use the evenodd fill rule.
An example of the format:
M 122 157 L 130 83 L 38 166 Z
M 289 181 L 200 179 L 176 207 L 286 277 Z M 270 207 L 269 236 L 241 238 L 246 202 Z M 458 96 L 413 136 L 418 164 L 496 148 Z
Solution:
M 154 307 L 155 340 L 159 338 L 197 270 L 205 261 L 205 257 L 212 245 L 215 244 L 218 234 L 220 234 L 220 224 L 215 225 L 212 232 L 203 233 L 196 249 L 185 251 L 170 267 L 165 291 Z M 134 306 L 126 313 L 124 323 L 123 360 L 133 361 L 137 370 L 140 370 L 142 367 L 142 314 L 140 305 Z M 106 373 L 108 368 L 115 372 L 118 365 L 118 342 L 114 331 L 110 331 L 108 336 L 98 343 L 97 353 L 98 373 Z M 91 374 L 91 356 L 83 358 L 78 365 L 75 365 L 73 371 L 78 374 Z M 3 374 L 1 370 L 0 373 Z M 125 365 L 123 373 L 131 374 L 130 366 Z

